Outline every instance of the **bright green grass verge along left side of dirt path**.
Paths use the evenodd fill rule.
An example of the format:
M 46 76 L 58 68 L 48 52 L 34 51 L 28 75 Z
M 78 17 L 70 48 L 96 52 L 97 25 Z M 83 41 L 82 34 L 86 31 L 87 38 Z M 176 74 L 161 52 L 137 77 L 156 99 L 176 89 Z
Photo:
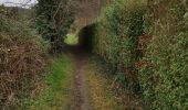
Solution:
M 49 66 L 45 77 L 46 87 L 35 98 L 31 110 L 69 110 L 71 107 L 71 81 L 73 63 L 71 57 L 62 55 Z

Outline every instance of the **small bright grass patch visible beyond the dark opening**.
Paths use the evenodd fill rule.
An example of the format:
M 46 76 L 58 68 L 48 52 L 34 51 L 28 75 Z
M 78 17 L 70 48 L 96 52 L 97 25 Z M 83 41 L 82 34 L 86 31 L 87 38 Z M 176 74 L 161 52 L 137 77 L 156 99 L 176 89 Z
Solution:
M 79 38 L 75 34 L 67 34 L 65 43 L 69 45 L 76 45 L 79 43 Z

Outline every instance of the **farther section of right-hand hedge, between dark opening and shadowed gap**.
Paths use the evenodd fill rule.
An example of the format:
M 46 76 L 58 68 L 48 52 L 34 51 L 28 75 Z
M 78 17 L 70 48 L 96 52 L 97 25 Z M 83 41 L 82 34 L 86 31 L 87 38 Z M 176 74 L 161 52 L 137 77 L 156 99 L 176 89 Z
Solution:
M 138 36 L 144 34 L 144 12 L 139 0 L 118 0 L 104 10 L 95 29 L 95 52 L 112 64 L 123 86 L 132 91 L 139 90 L 134 65 L 140 57 Z

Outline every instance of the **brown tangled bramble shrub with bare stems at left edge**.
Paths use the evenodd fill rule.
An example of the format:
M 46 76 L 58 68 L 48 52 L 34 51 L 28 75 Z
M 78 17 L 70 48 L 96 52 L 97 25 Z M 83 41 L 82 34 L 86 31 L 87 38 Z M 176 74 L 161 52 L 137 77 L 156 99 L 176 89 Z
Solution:
M 44 69 L 45 42 L 0 8 L 0 108 L 15 109 Z M 19 106 L 20 107 L 20 106 Z

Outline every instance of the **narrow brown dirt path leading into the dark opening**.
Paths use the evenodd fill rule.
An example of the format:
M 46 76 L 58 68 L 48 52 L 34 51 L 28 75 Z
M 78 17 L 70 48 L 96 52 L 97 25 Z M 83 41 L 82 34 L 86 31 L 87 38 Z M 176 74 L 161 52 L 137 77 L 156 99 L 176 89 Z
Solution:
M 72 109 L 73 110 L 91 110 L 88 92 L 86 87 L 86 80 L 84 75 L 84 66 L 87 59 L 86 53 L 80 47 L 71 47 L 76 67 L 73 74 L 73 98 Z

